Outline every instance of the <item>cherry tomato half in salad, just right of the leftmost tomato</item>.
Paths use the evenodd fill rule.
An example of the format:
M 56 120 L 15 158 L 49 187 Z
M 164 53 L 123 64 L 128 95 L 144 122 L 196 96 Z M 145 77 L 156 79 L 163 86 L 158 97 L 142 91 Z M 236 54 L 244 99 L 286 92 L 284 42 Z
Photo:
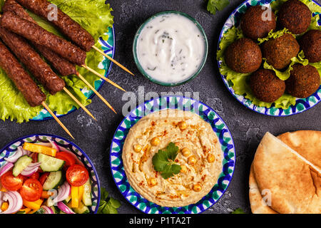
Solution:
M 22 185 L 20 194 L 26 201 L 36 201 L 41 198 L 42 185 L 39 180 L 28 179 Z

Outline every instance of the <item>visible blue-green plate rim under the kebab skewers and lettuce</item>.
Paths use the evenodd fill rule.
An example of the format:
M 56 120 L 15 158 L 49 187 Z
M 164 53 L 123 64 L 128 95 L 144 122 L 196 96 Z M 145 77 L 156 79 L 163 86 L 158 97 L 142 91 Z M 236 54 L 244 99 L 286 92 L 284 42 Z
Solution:
M 107 33 L 110 32 L 109 31 L 110 29 L 111 29 L 111 27 L 108 27 Z M 111 33 L 113 34 L 113 37 L 108 36 L 108 41 L 111 41 L 111 38 L 113 38 L 113 40 L 112 40 L 113 46 L 110 46 L 110 44 L 108 44 L 108 41 L 104 41 L 103 38 L 101 38 L 101 37 L 99 37 L 99 41 L 101 43 L 102 48 L 107 48 L 106 50 L 103 50 L 103 52 L 106 53 L 106 54 L 111 53 L 111 58 L 114 58 L 115 50 L 116 50 L 116 38 L 115 38 L 115 28 L 114 28 L 114 26 L 112 27 Z M 113 62 L 108 60 L 105 56 L 103 56 L 103 60 L 101 61 L 101 63 L 103 61 L 108 61 L 108 64 L 109 64 L 109 67 L 108 67 L 108 69 L 105 69 L 105 74 L 104 74 L 104 76 L 106 78 L 108 78 L 109 73 L 111 73 L 111 68 L 113 66 Z M 99 64 L 101 64 L 101 63 L 99 63 Z M 99 91 L 105 82 L 106 81 L 104 81 L 102 78 L 99 78 L 98 80 L 96 80 L 95 81 L 95 86 L 94 86 L 95 89 L 97 91 Z M 97 85 L 97 83 L 98 83 L 98 85 Z M 81 91 L 82 91 L 82 89 L 81 89 Z M 88 89 L 88 91 L 91 93 L 91 95 L 88 96 L 87 100 L 88 99 L 92 99 L 96 95 L 96 93 L 93 93 L 93 90 L 89 90 Z M 65 116 L 65 115 L 73 113 L 76 110 L 78 110 L 78 109 L 75 108 L 75 106 L 73 106 L 73 108 L 71 108 L 71 110 L 69 110 L 68 113 L 66 113 L 66 114 L 56 114 L 56 112 L 54 112 L 54 113 L 56 114 L 56 116 L 58 118 L 61 118 L 61 117 Z M 45 109 L 41 110 L 41 112 L 47 113 L 47 111 Z M 52 120 L 52 119 L 54 119 L 51 116 L 50 117 L 45 117 L 45 118 L 40 117 L 41 112 L 38 115 L 36 115 L 34 118 L 30 119 L 30 120 L 32 120 L 32 121 L 43 121 L 43 120 Z

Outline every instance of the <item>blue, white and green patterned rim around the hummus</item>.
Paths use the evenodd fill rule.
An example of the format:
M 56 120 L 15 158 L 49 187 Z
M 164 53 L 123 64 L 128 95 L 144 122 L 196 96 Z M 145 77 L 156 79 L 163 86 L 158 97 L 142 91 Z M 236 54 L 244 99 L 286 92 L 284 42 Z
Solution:
M 166 103 L 165 108 L 163 108 L 163 107 L 159 108 L 159 100 L 160 99 L 161 100 L 165 99 L 165 103 Z M 176 107 L 176 105 L 175 105 L 175 107 L 168 107 L 168 104 L 172 103 L 173 100 L 174 100 L 174 102 L 177 101 L 178 103 L 182 103 L 183 105 L 190 102 L 190 106 L 188 106 L 188 107 L 193 107 L 194 105 L 196 105 L 198 110 L 200 110 L 200 108 L 202 108 L 202 110 L 200 110 L 200 112 L 204 113 L 204 115 L 206 115 L 207 117 L 208 117 L 208 115 L 213 115 L 213 120 L 206 118 L 207 120 L 205 120 L 205 121 L 212 125 L 212 129 L 214 130 L 215 134 L 218 136 L 218 138 L 220 140 L 220 144 L 221 144 L 223 154 L 224 154 L 224 156 L 223 156 L 223 170 L 218 177 L 218 182 L 214 185 L 212 190 L 210 190 L 208 195 L 205 195 L 205 197 L 200 199 L 199 202 L 197 202 L 196 204 L 190 204 L 185 207 L 161 207 L 161 206 L 159 206 L 153 202 L 149 202 L 147 199 L 143 198 L 135 190 L 133 190 L 131 185 L 129 185 L 127 177 L 126 177 L 126 173 L 123 170 L 123 162 L 121 159 L 123 142 L 126 140 L 128 130 L 133 125 L 135 125 L 138 120 L 140 120 L 142 118 L 142 117 L 138 117 L 135 114 L 136 111 L 140 110 L 143 107 L 146 108 L 146 104 L 148 104 L 148 103 L 151 105 L 151 110 L 148 109 L 148 111 L 150 111 L 150 113 L 157 112 L 158 110 L 178 109 L 178 107 Z M 155 106 L 153 105 L 153 103 L 155 101 L 158 101 L 158 108 L 156 108 L 157 110 L 155 109 Z M 185 110 L 185 107 L 183 107 L 183 110 Z M 206 114 L 205 112 L 208 112 L 208 114 Z M 128 120 L 131 122 L 131 120 L 129 120 L 129 118 L 131 117 L 132 114 L 136 120 L 135 123 L 131 123 L 131 126 L 129 128 L 122 127 L 125 120 Z M 200 115 L 200 113 L 196 113 L 196 114 Z M 144 112 L 144 116 L 145 115 L 146 115 L 146 113 Z M 202 118 L 202 115 L 200 115 L 200 117 Z M 223 125 L 223 128 L 221 130 L 216 129 L 218 127 L 218 125 L 216 125 L 217 123 L 220 123 L 220 126 Z M 213 128 L 213 125 L 215 125 L 216 130 Z M 125 128 L 124 130 L 127 130 L 127 133 L 124 133 L 124 130 L 121 130 L 121 128 Z M 118 133 L 118 131 L 121 131 L 123 133 L 123 138 L 121 140 L 116 139 L 116 134 Z M 225 137 L 225 134 L 227 134 L 228 136 Z M 225 141 L 226 138 L 228 138 L 229 140 Z M 114 147 L 115 144 L 116 144 L 116 147 L 119 147 L 119 152 L 114 151 L 114 148 L 116 148 L 116 147 Z M 115 158 L 113 158 L 113 157 L 115 157 Z M 226 160 L 226 157 L 228 157 L 228 160 Z M 220 118 L 220 116 L 213 110 L 213 108 L 210 108 L 208 105 L 205 105 L 204 103 L 202 103 L 198 100 L 194 100 L 193 98 L 186 98 L 185 96 L 180 96 L 180 95 L 167 95 L 167 96 L 162 96 L 159 98 L 154 98 L 154 99 L 145 101 L 144 103 L 138 105 L 135 109 L 131 110 L 131 112 L 128 113 L 128 115 L 126 115 L 126 117 L 123 118 L 121 123 L 118 125 L 118 128 L 117 128 L 115 134 L 113 135 L 113 140 L 111 142 L 111 150 L 110 150 L 111 175 L 113 176 L 113 180 L 114 180 L 116 186 L 118 187 L 118 190 L 121 192 L 121 195 L 123 195 L 123 197 L 125 197 L 125 199 L 130 204 L 132 204 L 137 209 L 141 210 L 141 212 L 148 213 L 148 214 L 153 213 L 153 212 L 151 212 L 152 209 L 149 208 L 149 207 L 153 207 L 154 209 L 156 209 L 156 211 L 154 212 L 156 214 L 163 214 L 163 213 L 167 213 L 170 211 L 172 211 L 170 213 L 173 213 L 173 214 L 177 214 L 177 213 L 198 214 L 198 213 L 204 212 L 206 209 L 209 209 L 210 207 L 212 207 L 216 202 L 218 202 L 218 200 L 224 195 L 225 191 L 228 189 L 228 186 L 230 185 L 230 182 L 232 180 L 232 177 L 233 177 L 233 174 L 235 171 L 235 157 L 236 157 L 235 156 L 235 145 L 233 142 L 232 134 L 230 133 L 230 130 L 228 129 L 228 126 L 225 124 L 224 120 L 222 118 Z M 119 160 L 118 165 L 113 164 L 113 161 L 116 159 Z M 228 174 L 224 174 L 224 172 L 227 172 Z M 118 175 L 121 175 L 121 178 L 115 177 L 116 173 Z M 118 182 L 116 181 L 116 178 L 119 179 Z M 122 192 L 121 185 L 124 185 L 124 184 L 127 185 L 126 191 Z M 220 186 L 218 186 L 218 185 L 220 185 Z M 222 187 L 222 185 L 225 185 L 225 186 Z M 133 202 L 131 202 L 130 199 L 127 198 L 128 192 L 131 192 L 131 194 L 133 193 L 135 195 L 135 197 L 137 198 L 135 204 Z M 217 199 L 215 199 L 213 197 L 214 194 L 218 195 Z M 130 196 L 128 196 L 128 197 L 130 197 Z M 138 199 L 138 198 L 140 198 L 140 199 Z M 146 207 L 144 207 L 143 209 L 139 208 L 138 206 L 140 203 L 137 204 L 138 200 L 142 200 L 143 203 L 146 204 Z M 212 202 L 210 202 L 210 200 Z M 196 209 L 196 211 L 195 211 L 195 209 Z

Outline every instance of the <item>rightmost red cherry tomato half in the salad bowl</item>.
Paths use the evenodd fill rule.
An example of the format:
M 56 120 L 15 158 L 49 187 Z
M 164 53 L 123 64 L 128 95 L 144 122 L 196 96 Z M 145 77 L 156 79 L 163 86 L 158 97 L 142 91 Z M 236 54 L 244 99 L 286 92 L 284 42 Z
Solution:
M 66 172 L 66 179 L 69 184 L 79 187 L 84 185 L 89 178 L 88 171 L 82 165 L 71 165 Z

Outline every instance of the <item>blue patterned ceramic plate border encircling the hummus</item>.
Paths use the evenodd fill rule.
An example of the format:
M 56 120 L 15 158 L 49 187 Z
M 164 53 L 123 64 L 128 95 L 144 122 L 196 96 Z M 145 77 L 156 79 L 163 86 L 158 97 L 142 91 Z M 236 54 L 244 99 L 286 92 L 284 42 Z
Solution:
M 220 140 L 222 151 L 224 152 L 223 170 L 213 189 L 196 204 L 190 204 L 185 207 L 161 207 L 158 204 L 149 202 L 129 185 L 125 170 L 123 169 L 121 154 L 123 151 L 123 143 L 125 142 L 129 129 L 135 125 L 138 120 L 143 118 L 144 115 L 147 115 L 147 113 L 154 113 L 164 109 L 188 110 L 197 113 L 203 120 L 210 123 Z M 230 184 L 234 167 L 234 142 L 224 121 L 212 108 L 208 107 L 208 105 L 182 96 L 165 96 L 138 105 L 136 109 L 131 110 L 131 113 L 123 119 L 111 142 L 111 172 L 118 189 L 128 202 L 148 214 L 198 214 L 204 212 L 222 197 Z

